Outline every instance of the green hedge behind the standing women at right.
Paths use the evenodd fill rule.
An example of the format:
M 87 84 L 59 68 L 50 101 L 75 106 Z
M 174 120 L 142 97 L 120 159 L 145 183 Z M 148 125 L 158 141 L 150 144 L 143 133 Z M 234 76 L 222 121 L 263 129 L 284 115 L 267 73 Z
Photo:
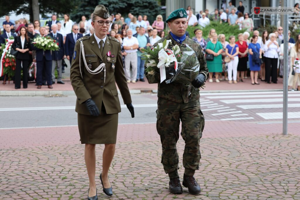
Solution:
M 205 28 L 203 28 L 202 26 L 199 26 L 199 25 L 195 26 L 195 27 L 188 26 L 187 31 L 190 34 L 190 38 L 195 36 L 194 30 L 196 28 L 199 28 L 200 30 L 203 31 L 203 37 L 205 39 L 207 39 L 207 36 L 208 36 L 208 33 L 209 33 L 210 29 L 214 28 L 216 30 L 217 34 L 221 34 L 221 33 L 225 34 L 226 41 L 229 41 L 229 36 L 230 35 L 234 35 L 235 40 L 237 40 L 238 39 L 238 34 L 244 33 L 246 31 L 246 29 L 239 30 L 238 25 L 232 26 L 232 25 L 229 25 L 228 23 L 219 23 L 219 22 L 212 22 L 211 21 L 210 24 L 207 25 Z M 252 33 L 250 33 L 250 37 L 252 37 Z

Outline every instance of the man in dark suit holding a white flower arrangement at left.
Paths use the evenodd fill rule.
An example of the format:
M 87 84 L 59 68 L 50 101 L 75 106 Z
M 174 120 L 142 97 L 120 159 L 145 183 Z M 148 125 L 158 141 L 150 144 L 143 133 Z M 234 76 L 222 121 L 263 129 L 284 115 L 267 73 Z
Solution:
M 40 28 L 40 36 L 45 36 L 46 33 L 46 28 L 41 27 Z M 37 85 L 38 89 L 42 88 L 43 84 L 43 71 L 46 72 L 46 80 L 47 80 L 47 85 L 49 89 L 52 89 L 52 56 L 51 56 L 51 51 L 46 50 L 44 51 L 43 49 L 38 49 L 35 46 L 32 45 L 32 50 L 36 51 L 36 61 L 37 61 Z

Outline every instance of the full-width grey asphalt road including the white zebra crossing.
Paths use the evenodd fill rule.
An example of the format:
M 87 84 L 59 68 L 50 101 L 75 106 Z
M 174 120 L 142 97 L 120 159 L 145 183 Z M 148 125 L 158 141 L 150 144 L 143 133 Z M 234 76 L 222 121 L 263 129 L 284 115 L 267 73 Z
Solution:
M 156 122 L 157 94 L 131 95 L 135 118 L 119 95 L 122 112 L 119 124 Z M 1 97 L 0 132 L 4 128 L 77 126 L 76 96 Z M 300 122 L 300 93 L 289 92 L 289 123 Z M 201 110 L 205 121 L 249 121 L 282 123 L 282 91 L 202 93 Z

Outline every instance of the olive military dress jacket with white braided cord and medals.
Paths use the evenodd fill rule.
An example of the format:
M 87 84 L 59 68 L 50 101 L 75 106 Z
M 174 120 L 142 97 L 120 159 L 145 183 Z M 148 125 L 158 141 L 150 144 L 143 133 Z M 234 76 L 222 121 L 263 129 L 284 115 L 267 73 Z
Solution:
M 84 45 L 85 59 L 88 68 L 95 70 L 101 63 L 105 63 L 105 82 L 104 70 L 98 74 L 91 74 L 86 69 L 82 58 L 82 52 L 79 52 L 81 41 Z M 75 108 L 77 113 L 90 115 L 84 104 L 84 102 L 90 98 L 95 101 L 99 110 L 101 110 L 103 103 L 107 114 L 121 112 L 116 83 L 124 103 L 131 103 L 131 96 L 123 70 L 121 44 L 116 38 L 106 38 L 101 54 L 94 34 L 81 37 L 77 40 L 73 57 L 70 59 L 73 59 L 70 69 L 70 79 L 77 96 Z

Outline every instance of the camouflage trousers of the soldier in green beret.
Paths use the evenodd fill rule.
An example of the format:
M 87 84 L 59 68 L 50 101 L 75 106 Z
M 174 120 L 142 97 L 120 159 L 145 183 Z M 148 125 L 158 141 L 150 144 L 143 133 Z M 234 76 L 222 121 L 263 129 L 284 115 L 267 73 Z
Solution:
M 156 129 L 161 138 L 161 163 L 167 173 L 177 169 L 179 157 L 176 143 L 179 139 L 179 124 L 182 122 L 181 136 L 184 139 L 183 166 L 185 169 L 199 169 L 200 138 L 204 128 L 204 116 L 199 100 L 176 103 L 158 97 Z

